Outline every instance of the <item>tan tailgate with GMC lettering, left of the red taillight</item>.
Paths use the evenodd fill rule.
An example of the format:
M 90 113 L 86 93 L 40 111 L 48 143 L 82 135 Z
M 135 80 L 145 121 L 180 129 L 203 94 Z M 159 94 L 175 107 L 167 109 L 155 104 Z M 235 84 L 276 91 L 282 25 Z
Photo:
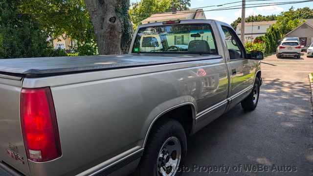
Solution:
M 19 114 L 21 86 L 22 78 L 0 75 L 0 162 L 30 175 Z

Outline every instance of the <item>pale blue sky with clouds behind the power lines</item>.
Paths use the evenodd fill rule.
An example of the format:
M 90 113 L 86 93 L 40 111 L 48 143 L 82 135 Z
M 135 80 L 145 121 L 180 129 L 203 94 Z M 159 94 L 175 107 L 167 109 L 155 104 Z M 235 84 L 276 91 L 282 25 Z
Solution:
M 132 2 L 136 2 L 140 0 L 131 0 Z M 191 0 L 191 6 L 190 8 L 198 8 L 198 7 L 204 7 L 204 6 L 210 6 L 210 5 L 220 5 L 225 4 L 229 2 L 236 2 L 240 0 Z M 276 3 L 276 2 L 292 2 L 295 0 L 266 0 L 266 1 L 247 1 L 246 4 L 256 4 L 256 3 Z M 297 0 L 299 1 L 299 0 Z M 228 6 L 234 6 L 234 5 L 241 5 L 241 2 L 234 3 L 234 4 L 228 4 L 223 5 L 219 7 L 206 7 L 203 8 L 203 10 L 210 10 L 210 9 L 216 9 L 216 8 L 222 8 L 222 7 L 228 7 Z M 251 6 L 251 5 L 250 5 Z M 257 6 L 257 5 L 253 5 Z M 273 5 L 273 6 L 266 6 L 266 7 L 253 7 L 253 8 L 246 8 L 246 17 L 250 16 L 252 14 L 254 15 L 278 15 L 282 11 L 287 11 L 291 6 L 297 8 L 303 8 L 303 7 L 313 7 L 313 1 L 312 2 L 304 2 L 304 3 L 297 3 L 297 4 L 285 4 L 285 5 Z M 240 7 L 240 6 L 239 6 Z M 236 8 L 236 7 L 234 7 Z M 219 20 L 222 22 L 226 22 L 228 24 L 235 21 L 238 17 L 241 17 L 241 9 L 233 9 L 233 10 L 222 10 L 222 11 L 208 11 L 204 12 L 206 19 L 214 19 Z

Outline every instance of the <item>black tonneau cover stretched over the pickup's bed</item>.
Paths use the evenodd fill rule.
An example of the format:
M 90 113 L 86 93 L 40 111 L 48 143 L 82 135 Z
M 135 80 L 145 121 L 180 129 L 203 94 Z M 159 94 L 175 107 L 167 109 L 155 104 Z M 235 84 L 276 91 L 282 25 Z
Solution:
M 103 56 L 0 59 L 0 74 L 43 77 L 132 66 L 150 66 L 221 58 L 217 55 L 125 54 Z

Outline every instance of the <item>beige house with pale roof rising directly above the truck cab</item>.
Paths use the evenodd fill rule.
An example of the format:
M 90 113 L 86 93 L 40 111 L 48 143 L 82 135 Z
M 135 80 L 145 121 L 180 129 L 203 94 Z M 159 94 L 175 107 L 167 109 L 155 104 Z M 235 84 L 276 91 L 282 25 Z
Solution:
M 203 9 L 152 14 L 149 18 L 143 20 L 141 23 L 146 24 L 150 22 L 165 22 L 172 20 L 191 20 L 191 19 L 206 19 Z

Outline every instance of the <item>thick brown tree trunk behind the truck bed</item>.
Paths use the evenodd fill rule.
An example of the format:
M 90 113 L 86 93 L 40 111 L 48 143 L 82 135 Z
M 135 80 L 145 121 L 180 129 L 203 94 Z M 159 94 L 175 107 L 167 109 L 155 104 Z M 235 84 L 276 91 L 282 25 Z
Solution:
M 89 11 L 100 55 L 128 51 L 132 26 L 129 0 L 84 0 Z

